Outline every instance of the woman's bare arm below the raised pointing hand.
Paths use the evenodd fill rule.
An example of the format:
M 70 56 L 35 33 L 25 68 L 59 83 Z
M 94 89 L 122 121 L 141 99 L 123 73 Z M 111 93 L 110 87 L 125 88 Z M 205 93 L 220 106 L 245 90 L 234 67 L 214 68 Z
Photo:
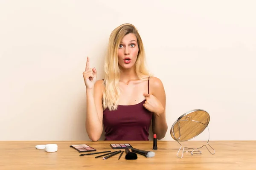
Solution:
M 86 113 L 86 131 L 89 138 L 96 142 L 102 135 L 103 126 L 103 108 L 102 96 L 104 85 L 103 80 L 96 81 L 93 89 L 86 89 L 87 113 Z

